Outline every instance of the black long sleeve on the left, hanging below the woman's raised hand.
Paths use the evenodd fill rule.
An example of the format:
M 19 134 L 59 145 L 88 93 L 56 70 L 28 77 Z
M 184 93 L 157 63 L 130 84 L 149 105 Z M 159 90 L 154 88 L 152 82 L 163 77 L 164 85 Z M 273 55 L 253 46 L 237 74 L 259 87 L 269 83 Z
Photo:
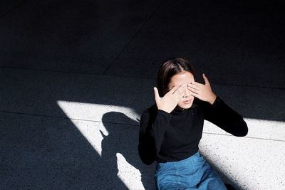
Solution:
M 149 109 L 140 118 L 138 152 L 145 164 L 152 164 L 160 151 L 171 115 L 162 110 Z

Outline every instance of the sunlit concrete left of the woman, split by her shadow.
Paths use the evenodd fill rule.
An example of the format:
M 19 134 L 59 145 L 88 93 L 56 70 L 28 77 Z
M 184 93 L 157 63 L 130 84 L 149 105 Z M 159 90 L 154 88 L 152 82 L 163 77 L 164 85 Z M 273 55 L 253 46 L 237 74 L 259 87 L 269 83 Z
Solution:
M 123 106 L 99 105 L 82 102 L 58 101 L 59 107 L 70 118 L 73 125 L 83 134 L 95 151 L 102 156 L 103 136 L 109 132 L 103 125 L 102 117 L 108 112 L 121 112 L 130 120 L 137 121 L 140 117 L 133 109 Z M 114 122 L 114 121 L 107 121 Z M 115 121 L 119 122 L 120 121 Z M 117 153 L 118 177 L 128 189 L 144 189 L 141 182 L 141 174 L 138 169 L 129 164 L 122 154 Z M 138 161 L 140 162 L 140 161 Z

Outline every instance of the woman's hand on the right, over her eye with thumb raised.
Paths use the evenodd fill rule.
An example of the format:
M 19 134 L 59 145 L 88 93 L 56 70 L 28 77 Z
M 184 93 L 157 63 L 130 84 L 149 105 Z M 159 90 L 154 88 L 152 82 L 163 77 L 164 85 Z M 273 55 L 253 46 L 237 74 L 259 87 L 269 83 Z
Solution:
M 190 90 L 190 94 L 194 97 L 199 98 L 199 100 L 209 102 L 211 105 L 216 100 L 217 95 L 212 92 L 211 85 L 209 85 L 209 80 L 207 79 L 206 75 L 203 73 L 203 78 L 205 84 L 192 82 L 187 85 L 188 90 Z

